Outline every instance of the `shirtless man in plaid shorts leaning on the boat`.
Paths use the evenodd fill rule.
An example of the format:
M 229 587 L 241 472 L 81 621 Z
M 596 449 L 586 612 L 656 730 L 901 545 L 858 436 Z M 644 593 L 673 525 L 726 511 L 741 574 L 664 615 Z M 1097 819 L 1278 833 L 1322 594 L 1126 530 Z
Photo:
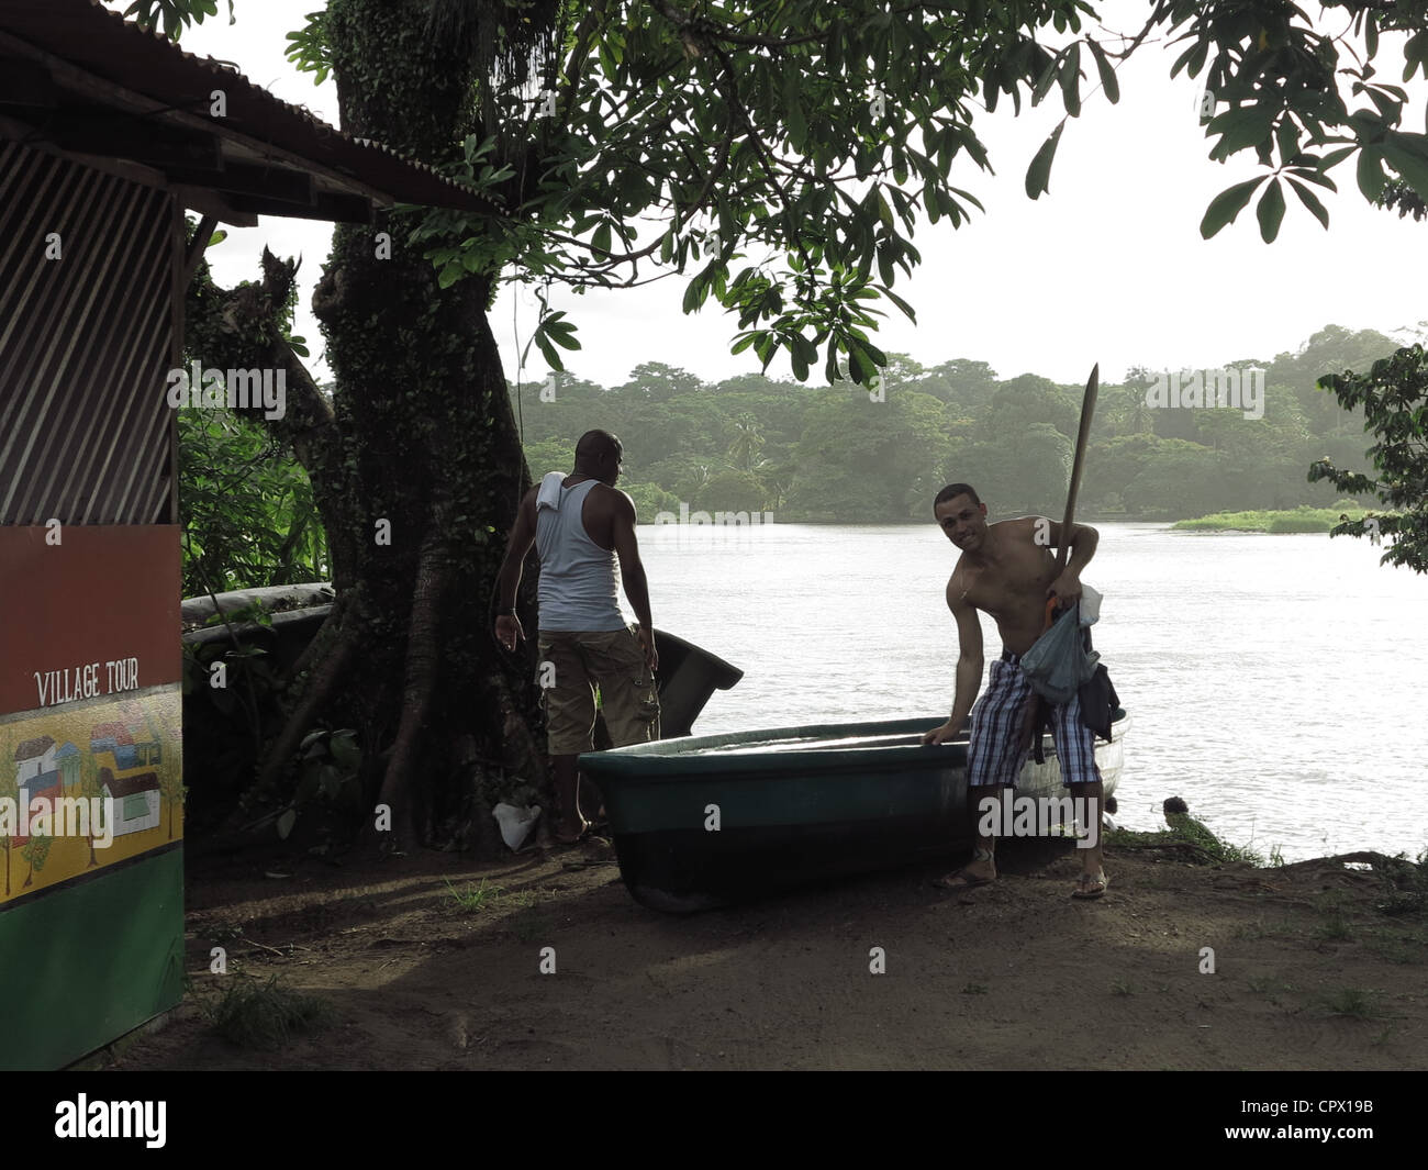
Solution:
M 1071 604 L 1081 596 L 1081 570 L 1095 556 L 1098 536 L 1095 529 L 1072 524 L 1071 557 L 1058 576 L 1051 549 L 1061 547 L 1061 524 L 1034 516 L 988 524 L 987 504 L 965 483 L 948 484 L 938 491 L 932 514 L 947 539 L 962 551 L 947 583 L 947 606 L 957 620 L 961 653 L 952 714 L 941 727 L 922 736 L 922 743 L 955 739 L 971 713 L 967 796 L 972 819 L 980 821 L 981 801 L 987 796 L 1000 800 L 1002 789 L 1015 784 L 1030 750 L 1030 746 L 1021 746 L 1022 711 L 1031 696 L 1031 684 L 1018 666 L 1021 656 L 1041 637 L 1047 599 L 1055 594 L 1058 601 Z M 991 664 L 987 694 L 974 707 L 982 677 L 982 636 L 977 610 L 985 610 L 997 621 L 1002 654 L 1000 661 Z M 1095 766 L 1092 733 L 1081 723 L 1081 703 L 1072 699 L 1052 710 L 1062 783 L 1071 789 L 1072 799 L 1082 799 L 1075 807 L 1088 809 L 1088 819 L 1100 819 L 1101 773 Z M 997 877 L 995 847 L 995 837 L 978 833 L 971 863 L 937 884 L 962 889 L 992 881 Z M 1100 897 L 1110 884 L 1101 864 L 1100 836 L 1095 846 L 1077 851 L 1082 856 L 1084 870 L 1071 896 Z

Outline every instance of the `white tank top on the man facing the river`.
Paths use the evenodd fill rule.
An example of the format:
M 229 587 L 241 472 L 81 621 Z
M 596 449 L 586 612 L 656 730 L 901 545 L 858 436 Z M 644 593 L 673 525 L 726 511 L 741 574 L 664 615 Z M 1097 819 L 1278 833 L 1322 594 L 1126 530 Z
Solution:
M 540 629 L 623 630 L 620 564 L 614 551 L 590 539 L 580 519 L 585 497 L 600 480 L 560 490 L 560 509 L 536 510 L 540 553 Z

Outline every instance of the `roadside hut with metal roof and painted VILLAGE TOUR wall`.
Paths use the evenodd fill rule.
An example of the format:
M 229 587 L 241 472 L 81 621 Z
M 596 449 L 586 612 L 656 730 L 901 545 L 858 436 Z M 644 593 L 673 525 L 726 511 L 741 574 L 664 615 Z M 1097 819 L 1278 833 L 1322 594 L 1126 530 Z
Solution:
M 398 201 L 493 210 L 93 0 L 0 0 L 0 763 L 26 796 L 93 774 L 117 821 L 107 849 L 56 837 L 23 881 L 3 874 L 0 1004 L 24 1010 L 6 1014 L 0 1069 L 64 1066 L 183 994 L 167 373 L 203 363 L 184 351 L 184 290 L 220 223 L 376 239 Z M 121 694 L 37 693 L 101 663 L 134 664 Z M 67 741 L 86 734 L 90 760 Z M 143 831 L 161 810 L 167 831 Z

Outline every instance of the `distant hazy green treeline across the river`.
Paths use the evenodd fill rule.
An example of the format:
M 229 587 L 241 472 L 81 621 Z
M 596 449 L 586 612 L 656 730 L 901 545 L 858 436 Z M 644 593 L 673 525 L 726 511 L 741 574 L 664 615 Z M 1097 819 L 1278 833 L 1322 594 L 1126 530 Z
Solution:
M 1328 326 L 1298 353 L 1230 363 L 1264 370 L 1264 400 L 1254 410 L 1148 406 L 1158 380 L 1165 389 L 1165 371 L 1157 369 L 1102 384 L 1081 516 L 1178 520 L 1331 506 L 1337 493 L 1307 481 L 1309 464 L 1328 456 L 1339 467 L 1369 470 L 1371 440 L 1362 413 L 1342 410 L 1315 383 L 1327 373 L 1367 370 L 1397 349 L 1381 333 Z M 1242 380 L 1248 387 L 1250 376 Z M 1188 396 L 1190 379 L 1182 381 Z M 650 361 L 611 389 L 574 373 L 548 379 L 544 389 L 527 383 L 518 406 L 537 477 L 568 470 L 583 431 L 618 434 L 625 449 L 620 486 L 641 520 L 685 503 L 710 513 L 771 511 L 783 521 L 877 523 L 927 519 L 937 490 L 954 481 L 974 484 L 994 516 L 1057 514 L 1081 393 L 1037 374 L 1000 379 L 984 361 L 925 369 L 890 354 L 883 401 L 851 383 L 760 374 L 704 383 Z M 1212 379 L 1208 397 L 1214 401 Z

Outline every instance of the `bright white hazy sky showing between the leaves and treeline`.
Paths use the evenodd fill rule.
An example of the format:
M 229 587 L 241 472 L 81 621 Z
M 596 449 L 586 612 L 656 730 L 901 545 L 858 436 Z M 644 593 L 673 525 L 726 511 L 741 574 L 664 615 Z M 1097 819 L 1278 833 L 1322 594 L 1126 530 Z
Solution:
M 220 19 L 190 29 L 183 44 L 236 63 L 254 83 L 336 124 L 333 81 L 317 87 L 283 57 L 284 34 L 300 27 L 308 7 L 237 0 L 237 23 L 228 26 L 227 6 L 220 4 Z M 1134 33 L 1148 4 L 1118 0 L 1101 13 L 1107 29 Z M 1338 31 L 1337 24 L 1327 27 Z M 1401 40 L 1384 37 L 1379 80 L 1399 80 L 1401 60 L 1388 57 Z M 1050 33 L 1045 41 L 1064 39 Z M 1174 56 L 1178 50 L 1147 43 L 1120 70 L 1120 104 L 1100 93 L 1084 103 L 1061 136 L 1050 193 L 1037 201 L 1027 199 L 1022 181 L 1064 114 L 1057 90 L 1035 110 L 1024 106 L 1021 117 L 1012 117 L 1005 99 L 995 114 L 981 114 L 975 129 L 997 174 L 960 160 L 952 180 L 987 213 L 974 210 L 972 223 L 961 229 L 944 220 L 917 231 L 922 266 L 894 289 L 917 309 L 920 324 L 883 306 L 890 316 L 875 343 L 928 366 L 967 357 L 990 363 L 1002 377 L 1031 371 L 1075 383 L 1094 361 L 1104 380 L 1117 380 L 1137 364 L 1212 367 L 1272 357 L 1329 323 L 1389 331 L 1428 317 L 1428 223 L 1369 207 L 1354 181 L 1352 160 L 1334 171 L 1338 196 L 1315 189 L 1329 210 L 1328 231 L 1287 191 L 1288 211 L 1274 244 L 1261 241 L 1252 203 L 1214 240 L 1201 240 L 1210 200 L 1261 171 L 1252 159 L 1208 160 L 1212 140 L 1204 137 L 1195 109 L 1200 87 L 1184 74 L 1170 80 Z M 1084 69 L 1094 77 L 1090 63 Z M 1419 79 L 1408 89 L 1414 100 L 1404 129 L 1418 130 L 1425 87 Z M 308 304 L 330 237 L 328 224 L 263 217 L 256 229 L 230 229 L 208 256 L 216 279 L 231 284 L 257 276 L 264 244 L 280 256 L 301 253 L 297 331 L 320 359 L 321 334 Z M 687 317 L 680 311 L 683 293 L 678 276 L 580 297 L 554 289 L 553 307 L 575 320 L 584 346 L 570 354 L 571 371 L 605 386 L 624 381 L 640 361 L 683 366 L 707 380 L 757 371 L 753 353 L 728 353 L 734 317 L 717 306 Z M 497 301 L 493 327 L 510 379 L 520 357 L 514 339 L 528 340 L 536 316 L 528 291 L 507 290 Z M 314 366 L 327 376 L 320 360 Z M 787 359 L 780 354 L 768 373 L 787 376 Z M 521 380 L 544 374 L 531 349 Z

